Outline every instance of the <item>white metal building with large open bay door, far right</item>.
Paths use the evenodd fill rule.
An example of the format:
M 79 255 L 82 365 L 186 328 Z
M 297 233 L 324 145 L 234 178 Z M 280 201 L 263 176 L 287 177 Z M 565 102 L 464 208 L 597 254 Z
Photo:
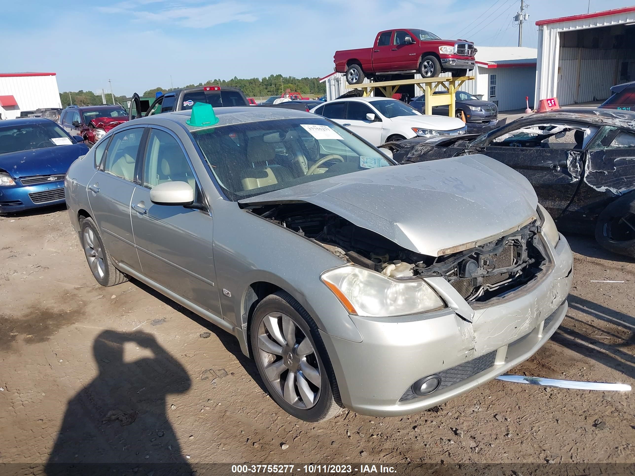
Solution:
M 597 102 L 635 79 L 635 6 L 540 20 L 536 102 Z

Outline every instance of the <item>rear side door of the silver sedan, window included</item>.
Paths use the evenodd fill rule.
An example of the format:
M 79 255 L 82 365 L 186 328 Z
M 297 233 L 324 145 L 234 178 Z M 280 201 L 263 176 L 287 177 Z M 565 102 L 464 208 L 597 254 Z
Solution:
M 117 263 L 134 270 L 139 270 L 139 258 L 130 223 L 130 202 L 144 130 L 131 128 L 114 134 L 88 185 L 88 201 L 104 246 Z

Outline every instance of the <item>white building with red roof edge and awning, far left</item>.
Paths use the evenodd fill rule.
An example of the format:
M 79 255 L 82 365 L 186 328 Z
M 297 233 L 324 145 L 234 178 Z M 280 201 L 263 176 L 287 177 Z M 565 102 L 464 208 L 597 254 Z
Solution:
M 0 73 L 0 114 L 20 117 L 21 111 L 62 107 L 55 73 Z

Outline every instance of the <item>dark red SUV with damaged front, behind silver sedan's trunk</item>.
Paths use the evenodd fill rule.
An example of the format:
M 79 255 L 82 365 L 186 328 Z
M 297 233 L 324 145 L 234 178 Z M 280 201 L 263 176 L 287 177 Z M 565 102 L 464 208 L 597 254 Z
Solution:
M 128 113 L 121 106 L 69 106 L 60 114 L 62 129 L 72 136 L 82 136 L 88 147 L 106 133 L 128 121 Z

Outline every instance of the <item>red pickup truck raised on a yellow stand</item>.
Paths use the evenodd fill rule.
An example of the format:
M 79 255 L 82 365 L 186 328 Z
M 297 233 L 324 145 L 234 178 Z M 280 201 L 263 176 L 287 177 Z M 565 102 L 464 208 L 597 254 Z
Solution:
M 335 51 L 335 71 L 346 74 L 349 84 L 359 84 L 364 77 L 380 74 L 417 72 L 436 77 L 451 71 L 452 76 L 466 76 L 474 69 L 474 43 L 444 40 L 426 30 L 403 28 L 377 34 L 373 48 Z

